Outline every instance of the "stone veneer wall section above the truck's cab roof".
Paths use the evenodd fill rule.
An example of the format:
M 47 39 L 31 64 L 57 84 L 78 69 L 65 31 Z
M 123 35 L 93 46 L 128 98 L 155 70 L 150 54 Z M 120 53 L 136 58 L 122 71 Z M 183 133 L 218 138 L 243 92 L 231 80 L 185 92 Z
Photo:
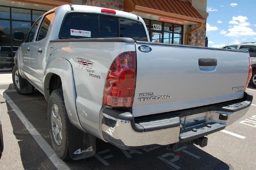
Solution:
M 124 10 L 124 0 L 83 0 L 83 5 L 111 8 L 115 10 Z

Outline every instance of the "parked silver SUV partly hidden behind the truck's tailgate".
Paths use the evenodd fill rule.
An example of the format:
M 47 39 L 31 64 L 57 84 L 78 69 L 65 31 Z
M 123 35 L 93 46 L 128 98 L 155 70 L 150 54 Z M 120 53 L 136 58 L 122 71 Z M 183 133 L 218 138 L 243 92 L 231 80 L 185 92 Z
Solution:
M 240 44 L 230 44 L 222 47 L 224 49 L 248 50 L 252 62 L 252 78 L 250 84 L 256 88 L 256 42 L 244 42 Z

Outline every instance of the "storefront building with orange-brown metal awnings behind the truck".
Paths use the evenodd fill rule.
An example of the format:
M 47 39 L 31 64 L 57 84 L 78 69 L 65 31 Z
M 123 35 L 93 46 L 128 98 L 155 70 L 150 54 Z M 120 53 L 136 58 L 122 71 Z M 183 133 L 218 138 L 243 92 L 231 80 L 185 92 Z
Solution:
M 12 40 L 16 31 L 25 36 L 44 12 L 63 4 L 99 6 L 141 16 L 151 42 L 205 45 L 207 0 L 1 0 L 0 71 L 12 70 L 13 56 L 21 42 Z

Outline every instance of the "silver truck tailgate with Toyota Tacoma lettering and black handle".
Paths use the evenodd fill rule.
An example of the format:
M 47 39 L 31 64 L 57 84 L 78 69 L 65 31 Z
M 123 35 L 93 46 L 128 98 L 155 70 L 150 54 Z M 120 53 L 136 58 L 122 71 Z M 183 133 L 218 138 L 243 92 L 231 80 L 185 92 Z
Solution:
M 143 52 L 148 47 L 152 50 Z M 244 96 L 248 52 L 137 42 L 136 57 L 135 117 Z

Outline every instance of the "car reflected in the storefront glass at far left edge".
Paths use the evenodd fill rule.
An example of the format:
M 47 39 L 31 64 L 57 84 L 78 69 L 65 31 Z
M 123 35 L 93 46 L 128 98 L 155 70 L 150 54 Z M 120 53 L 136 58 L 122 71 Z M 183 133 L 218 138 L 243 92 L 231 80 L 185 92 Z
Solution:
M 11 46 L 0 46 L 0 68 L 12 68 L 12 61 L 14 63 L 14 54 L 18 48 L 18 46 L 12 46 L 11 54 Z

